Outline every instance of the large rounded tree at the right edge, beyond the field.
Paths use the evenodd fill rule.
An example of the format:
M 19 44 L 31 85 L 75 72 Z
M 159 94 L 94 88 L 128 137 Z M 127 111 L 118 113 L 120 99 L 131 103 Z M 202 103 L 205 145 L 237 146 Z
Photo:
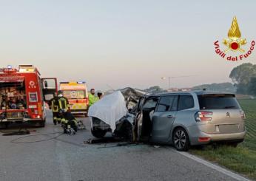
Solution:
M 230 72 L 229 78 L 235 83 L 238 94 L 256 95 L 256 64 L 236 66 Z

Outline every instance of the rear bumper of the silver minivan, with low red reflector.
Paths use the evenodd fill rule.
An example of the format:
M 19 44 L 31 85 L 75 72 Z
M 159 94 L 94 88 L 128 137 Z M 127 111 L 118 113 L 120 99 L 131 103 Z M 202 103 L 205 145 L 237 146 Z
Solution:
M 198 134 L 190 134 L 189 140 L 191 145 L 205 145 L 215 142 L 242 142 L 245 136 L 246 131 L 230 134 L 207 134 L 199 131 Z

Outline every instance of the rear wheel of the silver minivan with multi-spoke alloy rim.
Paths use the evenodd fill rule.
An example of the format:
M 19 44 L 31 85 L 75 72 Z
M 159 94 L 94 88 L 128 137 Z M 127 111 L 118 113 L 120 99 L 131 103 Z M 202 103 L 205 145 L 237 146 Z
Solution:
M 189 150 L 189 135 L 183 128 L 177 128 L 172 134 L 173 146 L 178 151 L 188 151 Z

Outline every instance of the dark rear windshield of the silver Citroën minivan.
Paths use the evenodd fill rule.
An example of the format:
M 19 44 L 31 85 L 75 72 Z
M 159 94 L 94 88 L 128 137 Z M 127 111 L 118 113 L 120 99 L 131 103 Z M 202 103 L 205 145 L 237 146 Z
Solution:
M 235 95 L 198 95 L 200 109 L 240 109 Z

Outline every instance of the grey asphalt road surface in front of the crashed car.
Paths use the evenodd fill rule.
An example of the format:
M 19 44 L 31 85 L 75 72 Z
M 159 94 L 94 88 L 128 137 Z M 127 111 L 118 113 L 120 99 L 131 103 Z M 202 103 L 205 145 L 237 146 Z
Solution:
M 170 146 L 84 144 L 93 138 L 90 123 L 88 118 L 78 119 L 84 120 L 87 130 L 75 136 L 0 136 L 0 180 L 234 180 Z M 49 115 L 45 128 L 32 134 L 53 132 L 62 129 L 53 125 Z M 23 138 L 14 140 L 18 137 Z

